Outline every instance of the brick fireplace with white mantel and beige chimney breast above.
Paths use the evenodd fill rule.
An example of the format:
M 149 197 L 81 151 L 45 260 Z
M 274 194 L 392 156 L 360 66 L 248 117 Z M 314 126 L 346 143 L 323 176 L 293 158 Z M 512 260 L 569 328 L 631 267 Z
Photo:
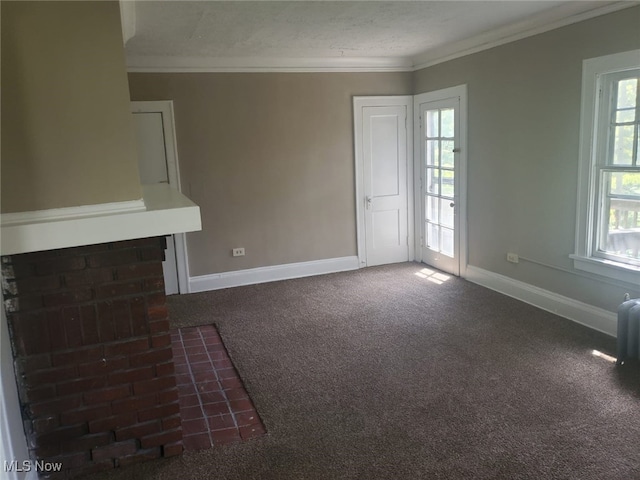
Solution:
M 177 164 L 170 184 L 141 179 L 121 6 L 0 2 L 11 119 L 1 142 L 3 479 L 22 480 L 29 460 L 62 462 L 52 476 L 66 478 L 182 451 L 161 262 L 165 235 L 176 235 L 187 292 L 183 234 L 201 230 L 200 209 L 180 193 Z

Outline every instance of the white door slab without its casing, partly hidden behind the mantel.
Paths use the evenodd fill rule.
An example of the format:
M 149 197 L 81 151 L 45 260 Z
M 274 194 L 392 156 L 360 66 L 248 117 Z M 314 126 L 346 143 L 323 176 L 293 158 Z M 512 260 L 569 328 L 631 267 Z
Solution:
M 162 112 L 139 112 L 133 114 L 138 140 L 138 168 L 143 184 L 169 183 L 167 142 L 163 128 Z M 165 293 L 180 293 L 178 266 L 174 235 L 167 236 L 165 261 L 162 262 Z

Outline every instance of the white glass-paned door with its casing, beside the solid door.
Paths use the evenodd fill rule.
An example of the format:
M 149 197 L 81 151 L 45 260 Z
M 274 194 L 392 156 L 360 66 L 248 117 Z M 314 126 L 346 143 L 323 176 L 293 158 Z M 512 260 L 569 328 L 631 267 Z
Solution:
M 460 275 L 461 264 L 465 264 L 462 254 L 466 251 L 463 119 L 461 96 L 447 97 L 451 93 L 448 89 L 439 95 L 435 92 L 416 97 L 420 254 L 424 263 Z

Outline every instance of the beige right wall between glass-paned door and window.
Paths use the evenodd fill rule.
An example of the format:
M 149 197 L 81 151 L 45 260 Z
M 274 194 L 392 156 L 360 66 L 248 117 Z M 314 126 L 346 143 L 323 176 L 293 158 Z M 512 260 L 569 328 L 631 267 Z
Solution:
M 416 72 L 415 93 L 468 86 L 471 265 L 609 310 L 640 293 L 570 273 L 569 259 L 582 61 L 640 48 L 639 26 L 635 7 Z

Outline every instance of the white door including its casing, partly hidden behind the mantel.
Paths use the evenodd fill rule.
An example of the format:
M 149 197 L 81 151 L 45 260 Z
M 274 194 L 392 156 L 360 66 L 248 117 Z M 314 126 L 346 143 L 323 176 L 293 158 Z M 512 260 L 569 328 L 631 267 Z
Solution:
M 134 126 L 138 140 L 141 183 L 168 183 L 180 191 L 173 102 L 131 102 L 131 109 L 134 114 Z M 167 295 L 189 292 L 184 234 L 167 237 L 167 249 L 162 269 Z

